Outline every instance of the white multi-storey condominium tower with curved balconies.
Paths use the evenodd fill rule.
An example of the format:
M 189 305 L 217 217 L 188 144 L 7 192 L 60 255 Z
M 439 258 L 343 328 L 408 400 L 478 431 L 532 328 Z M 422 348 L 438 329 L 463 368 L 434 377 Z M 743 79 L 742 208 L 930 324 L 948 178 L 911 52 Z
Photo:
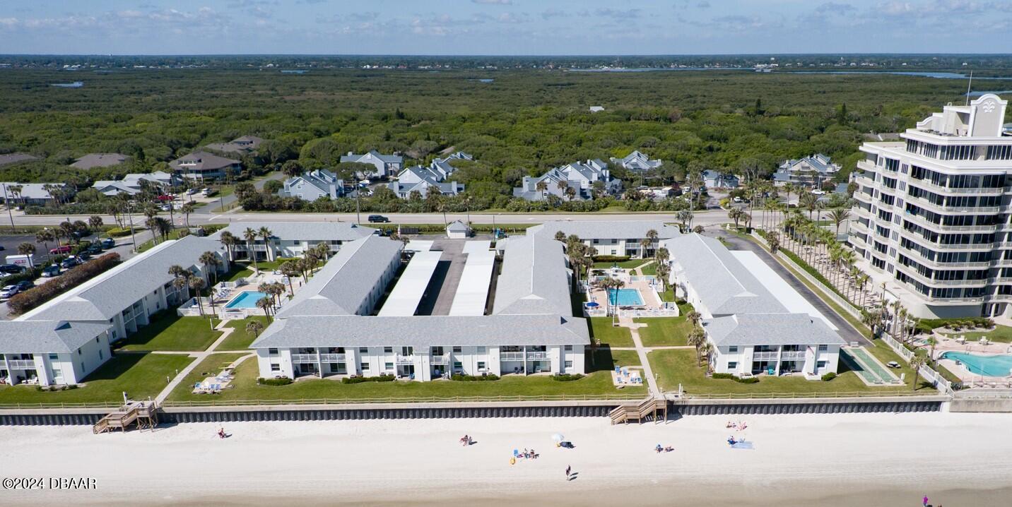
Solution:
M 946 105 L 865 143 L 850 243 L 916 317 L 1007 316 L 1012 302 L 1012 136 L 1008 102 Z

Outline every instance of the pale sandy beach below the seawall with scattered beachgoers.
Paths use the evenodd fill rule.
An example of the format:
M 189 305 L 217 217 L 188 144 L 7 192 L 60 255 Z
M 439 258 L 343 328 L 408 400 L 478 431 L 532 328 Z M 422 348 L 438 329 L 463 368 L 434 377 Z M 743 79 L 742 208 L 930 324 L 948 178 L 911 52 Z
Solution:
M 725 428 L 744 420 L 745 431 Z M 92 435 L 4 427 L 0 476 L 94 478 L 5 490 L 3 505 L 1008 505 L 1012 415 L 691 416 L 229 423 Z M 556 447 L 563 433 L 574 449 Z M 476 443 L 463 447 L 463 434 Z M 732 449 L 729 435 L 753 450 Z M 674 447 L 657 453 L 657 444 Z M 540 457 L 510 464 L 514 448 Z M 576 478 L 566 480 L 570 466 Z

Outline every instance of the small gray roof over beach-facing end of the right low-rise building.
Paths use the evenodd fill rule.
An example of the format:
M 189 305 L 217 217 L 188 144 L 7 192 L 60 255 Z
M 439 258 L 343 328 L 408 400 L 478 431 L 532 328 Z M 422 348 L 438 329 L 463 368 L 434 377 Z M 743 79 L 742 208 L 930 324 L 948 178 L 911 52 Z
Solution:
M 822 319 L 808 314 L 740 314 L 702 324 L 716 346 L 846 344 Z

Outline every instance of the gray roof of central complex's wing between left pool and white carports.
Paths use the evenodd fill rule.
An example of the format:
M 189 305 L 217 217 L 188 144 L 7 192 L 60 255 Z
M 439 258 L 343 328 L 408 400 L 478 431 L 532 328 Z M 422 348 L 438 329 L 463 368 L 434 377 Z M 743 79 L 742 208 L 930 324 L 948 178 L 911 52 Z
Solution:
M 277 317 L 354 315 L 401 248 L 398 241 L 372 235 L 343 245 Z

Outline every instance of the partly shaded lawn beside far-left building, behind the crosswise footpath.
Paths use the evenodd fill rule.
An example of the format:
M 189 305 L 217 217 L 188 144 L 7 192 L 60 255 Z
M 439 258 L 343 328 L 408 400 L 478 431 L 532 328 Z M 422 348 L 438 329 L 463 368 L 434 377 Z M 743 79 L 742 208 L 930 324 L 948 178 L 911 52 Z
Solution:
M 126 337 L 121 342 L 122 350 L 206 350 L 221 331 L 212 329 L 205 317 L 179 317 L 175 310 L 163 311 L 151 316 L 151 323 Z M 220 322 L 213 319 L 214 325 Z

